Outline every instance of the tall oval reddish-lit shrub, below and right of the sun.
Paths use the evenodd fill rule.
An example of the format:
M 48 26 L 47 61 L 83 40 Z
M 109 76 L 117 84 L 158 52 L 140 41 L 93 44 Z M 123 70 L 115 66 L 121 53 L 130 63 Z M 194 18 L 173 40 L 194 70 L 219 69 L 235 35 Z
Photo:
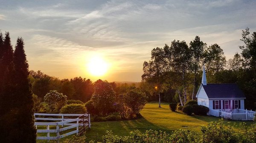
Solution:
M 94 93 L 91 100 L 95 109 L 102 115 L 107 115 L 113 111 L 115 92 L 107 81 L 98 80 L 94 85 Z

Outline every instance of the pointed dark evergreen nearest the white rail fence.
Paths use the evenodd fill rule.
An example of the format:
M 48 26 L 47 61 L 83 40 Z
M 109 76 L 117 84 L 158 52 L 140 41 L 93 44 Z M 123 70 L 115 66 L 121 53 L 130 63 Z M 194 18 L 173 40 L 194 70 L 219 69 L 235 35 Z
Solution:
M 15 67 L 15 105 L 17 109 L 16 129 L 11 131 L 13 143 L 36 143 L 36 129 L 34 126 L 34 110 L 31 84 L 29 84 L 29 64 L 26 60 L 24 42 L 22 38 L 17 39 L 14 51 Z M 19 99 L 19 100 L 17 100 Z M 16 106 L 16 107 L 15 107 Z

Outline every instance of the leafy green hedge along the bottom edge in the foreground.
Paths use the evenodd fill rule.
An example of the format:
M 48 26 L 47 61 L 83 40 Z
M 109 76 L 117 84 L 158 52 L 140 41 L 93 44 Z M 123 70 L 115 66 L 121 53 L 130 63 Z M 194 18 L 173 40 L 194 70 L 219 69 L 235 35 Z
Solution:
M 112 131 L 106 131 L 97 143 L 256 143 L 255 125 L 246 128 L 241 126 L 237 131 L 230 125 L 224 126 L 224 121 L 221 120 L 201 126 L 201 133 L 186 129 L 171 133 L 149 129 L 144 133 L 135 130 L 128 136 L 118 136 Z M 96 143 L 96 141 L 90 140 L 89 143 Z

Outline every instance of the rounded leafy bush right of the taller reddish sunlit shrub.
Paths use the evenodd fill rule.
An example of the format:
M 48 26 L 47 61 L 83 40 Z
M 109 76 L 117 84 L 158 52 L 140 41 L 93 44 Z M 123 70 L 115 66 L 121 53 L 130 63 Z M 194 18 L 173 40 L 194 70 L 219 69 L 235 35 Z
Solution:
M 133 114 L 139 114 L 147 103 L 147 96 L 138 89 L 131 89 L 123 95 L 124 104 Z

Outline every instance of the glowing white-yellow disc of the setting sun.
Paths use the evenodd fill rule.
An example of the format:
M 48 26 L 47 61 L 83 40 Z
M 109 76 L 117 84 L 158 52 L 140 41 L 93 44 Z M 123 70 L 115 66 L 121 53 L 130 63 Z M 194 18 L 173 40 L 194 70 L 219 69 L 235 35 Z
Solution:
M 88 62 L 87 70 L 93 76 L 103 76 L 108 71 L 108 63 L 101 57 L 96 56 Z

